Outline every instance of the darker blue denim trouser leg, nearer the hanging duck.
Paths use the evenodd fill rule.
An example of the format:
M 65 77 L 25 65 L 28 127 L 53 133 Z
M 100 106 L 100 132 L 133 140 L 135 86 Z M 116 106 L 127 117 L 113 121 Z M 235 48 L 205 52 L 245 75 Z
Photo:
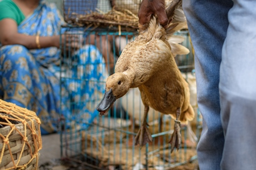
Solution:
M 197 100 L 203 131 L 197 147 L 199 167 L 220 169 L 224 134 L 220 116 L 221 49 L 228 29 L 232 1 L 183 0 L 189 33 L 195 48 Z

